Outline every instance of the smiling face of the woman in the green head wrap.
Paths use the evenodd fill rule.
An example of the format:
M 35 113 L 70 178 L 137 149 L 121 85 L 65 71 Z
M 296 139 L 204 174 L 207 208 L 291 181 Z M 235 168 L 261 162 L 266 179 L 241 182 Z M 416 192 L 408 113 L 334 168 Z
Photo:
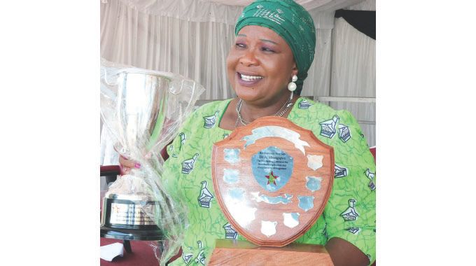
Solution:
M 297 75 L 288 43 L 272 29 L 254 25 L 239 31 L 227 68 L 237 96 L 258 106 L 289 97 L 288 83 Z

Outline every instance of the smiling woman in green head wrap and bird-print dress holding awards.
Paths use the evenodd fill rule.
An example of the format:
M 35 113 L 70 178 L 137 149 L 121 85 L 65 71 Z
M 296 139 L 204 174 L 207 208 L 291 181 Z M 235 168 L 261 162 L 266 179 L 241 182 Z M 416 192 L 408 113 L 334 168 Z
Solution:
M 235 34 L 227 68 L 237 98 L 200 107 L 167 148 L 162 176 L 169 189 L 183 193 L 190 223 L 182 258 L 172 265 L 204 263 L 215 239 L 243 239 L 230 234 L 214 196 L 211 150 L 235 128 L 263 116 L 288 118 L 334 147 L 330 199 L 296 242 L 325 245 L 335 265 L 368 265 L 375 260 L 375 165 L 367 141 L 348 111 L 297 96 L 314 59 L 316 32 L 309 13 L 291 0 L 255 1 L 244 8 Z

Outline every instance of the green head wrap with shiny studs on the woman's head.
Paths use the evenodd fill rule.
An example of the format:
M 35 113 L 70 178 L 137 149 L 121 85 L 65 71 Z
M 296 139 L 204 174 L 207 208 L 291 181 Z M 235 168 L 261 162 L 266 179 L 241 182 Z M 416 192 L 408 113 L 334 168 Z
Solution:
M 299 71 L 295 93 L 300 95 L 316 48 L 316 29 L 311 15 L 293 0 L 258 0 L 244 8 L 235 36 L 248 25 L 272 29 L 288 43 Z

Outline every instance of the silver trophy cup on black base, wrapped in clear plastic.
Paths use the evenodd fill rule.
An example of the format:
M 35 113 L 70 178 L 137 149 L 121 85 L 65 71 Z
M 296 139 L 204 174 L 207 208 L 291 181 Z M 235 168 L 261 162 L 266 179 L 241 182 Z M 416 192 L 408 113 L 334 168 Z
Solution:
M 182 76 L 102 65 L 101 118 L 114 148 L 140 169 L 121 176 L 104 195 L 101 237 L 156 240 L 160 264 L 179 250 L 186 226 L 180 197 L 162 185 L 160 151 L 175 137 L 204 88 Z M 157 250 L 157 248 L 156 248 Z

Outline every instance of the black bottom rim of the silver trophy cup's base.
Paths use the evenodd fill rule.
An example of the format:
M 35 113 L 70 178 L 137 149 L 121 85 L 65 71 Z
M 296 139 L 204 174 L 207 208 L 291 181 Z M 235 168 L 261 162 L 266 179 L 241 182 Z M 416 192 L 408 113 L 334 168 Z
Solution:
M 137 230 L 101 227 L 101 237 L 123 239 L 123 240 L 164 240 L 165 237 L 160 230 Z

